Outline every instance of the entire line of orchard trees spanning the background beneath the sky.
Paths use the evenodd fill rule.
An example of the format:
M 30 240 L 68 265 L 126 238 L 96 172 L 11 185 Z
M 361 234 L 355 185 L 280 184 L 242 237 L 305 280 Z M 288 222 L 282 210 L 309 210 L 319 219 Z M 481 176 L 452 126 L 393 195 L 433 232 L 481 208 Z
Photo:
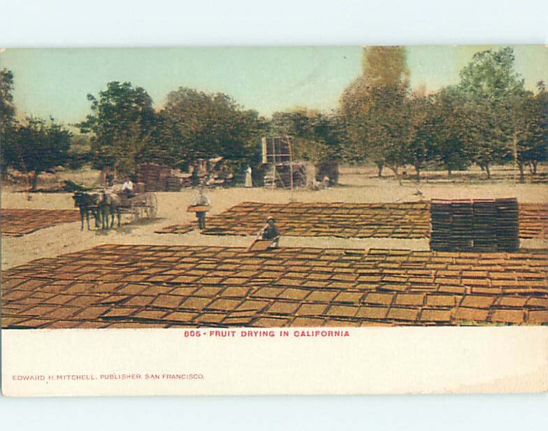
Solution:
M 294 136 L 295 158 L 370 162 L 399 178 L 403 167 L 453 171 L 477 164 L 491 178 L 493 164 L 513 162 L 524 181 L 548 160 L 548 92 L 525 89 L 514 71 L 512 48 L 477 52 L 459 82 L 427 94 L 410 87 L 405 48 L 364 48 L 362 73 L 329 113 L 307 108 L 264 118 L 223 93 L 187 87 L 170 92 L 156 111 L 143 87 L 110 82 L 88 94 L 90 113 L 80 135 L 54 119 L 17 120 L 13 73 L 0 77 L 1 169 L 38 175 L 58 165 L 114 167 L 134 173 L 141 162 L 185 169 L 194 160 L 222 156 L 239 167 L 260 163 L 261 136 Z M 89 140 L 89 149 L 82 150 Z

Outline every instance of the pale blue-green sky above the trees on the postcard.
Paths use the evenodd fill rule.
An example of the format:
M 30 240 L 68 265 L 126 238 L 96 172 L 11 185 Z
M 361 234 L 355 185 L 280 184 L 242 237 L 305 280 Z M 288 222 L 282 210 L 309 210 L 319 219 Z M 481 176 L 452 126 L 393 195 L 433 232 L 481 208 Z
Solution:
M 424 85 L 431 92 L 454 84 L 473 54 L 488 48 L 409 46 L 411 86 Z M 547 45 L 513 48 L 514 68 L 529 90 L 539 80 L 548 82 Z M 6 49 L 0 52 L 0 67 L 13 71 L 18 116 L 52 116 L 70 125 L 89 113 L 87 94 L 99 94 L 113 80 L 145 88 L 157 109 L 168 92 L 192 87 L 224 92 L 266 116 L 304 106 L 329 111 L 360 75 L 361 56 L 359 46 Z

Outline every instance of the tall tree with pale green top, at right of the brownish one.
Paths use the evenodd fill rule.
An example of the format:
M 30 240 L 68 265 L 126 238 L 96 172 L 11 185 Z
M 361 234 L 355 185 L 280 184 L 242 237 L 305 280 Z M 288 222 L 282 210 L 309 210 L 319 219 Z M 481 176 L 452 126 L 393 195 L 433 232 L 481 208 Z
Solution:
M 476 52 L 461 70 L 458 88 L 466 101 L 472 160 L 489 179 L 491 164 L 514 152 L 516 109 L 525 94 L 524 80 L 514 71 L 512 48 Z

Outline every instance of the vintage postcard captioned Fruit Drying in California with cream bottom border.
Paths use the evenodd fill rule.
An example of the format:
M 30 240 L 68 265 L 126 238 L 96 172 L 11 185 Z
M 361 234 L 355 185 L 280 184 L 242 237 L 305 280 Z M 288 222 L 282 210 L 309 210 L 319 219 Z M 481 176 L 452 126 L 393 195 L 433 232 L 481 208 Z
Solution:
M 546 45 L 0 73 L 4 395 L 548 390 Z

